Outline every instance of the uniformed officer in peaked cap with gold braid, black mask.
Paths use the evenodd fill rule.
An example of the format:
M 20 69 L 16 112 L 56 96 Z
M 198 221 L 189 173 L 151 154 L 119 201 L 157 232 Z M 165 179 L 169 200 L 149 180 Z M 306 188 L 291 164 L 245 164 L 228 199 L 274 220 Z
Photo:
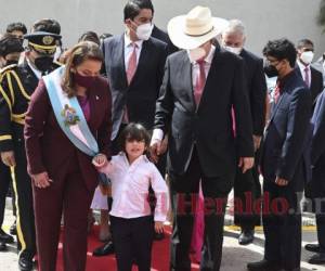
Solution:
M 53 55 L 61 36 L 43 30 L 24 36 L 28 44 L 23 63 L 8 66 L 0 76 L 0 154 L 15 173 L 18 267 L 23 271 L 32 269 L 36 253 L 31 182 L 24 144 L 25 114 L 38 80 L 58 67 Z

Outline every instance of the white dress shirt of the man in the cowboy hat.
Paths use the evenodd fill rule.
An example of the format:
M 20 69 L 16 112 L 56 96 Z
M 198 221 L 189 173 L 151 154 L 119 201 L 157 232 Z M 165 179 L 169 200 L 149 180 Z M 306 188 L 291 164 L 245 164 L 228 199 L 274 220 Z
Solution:
M 206 72 L 205 75 L 206 75 L 206 78 L 209 75 L 210 67 L 211 67 L 211 64 L 212 64 L 212 60 L 213 60 L 213 56 L 214 56 L 214 52 L 216 52 L 216 47 L 212 46 L 211 49 L 210 49 L 210 52 L 205 57 L 205 72 Z M 192 86 L 193 86 L 193 90 L 194 90 L 196 88 L 197 77 L 199 76 L 199 65 L 196 61 L 191 60 L 190 51 L 187 51 L 187 55 L 188 55 L 188 59 L 190 59 L 191 64 L 192 64 Z M 161 129 L 154 129 L 151 145 L 161 141 L 162 139 L 164 139 L 164 131 Z

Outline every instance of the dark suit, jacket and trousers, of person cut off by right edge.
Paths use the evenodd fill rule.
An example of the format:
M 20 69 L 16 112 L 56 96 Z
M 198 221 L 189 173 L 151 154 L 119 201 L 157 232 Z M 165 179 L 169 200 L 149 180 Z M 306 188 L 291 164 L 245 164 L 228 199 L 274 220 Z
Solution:
M 324 202 L 325 198 L 325 91 L 323 91 L 315 105 L 312 117 L 313 138 L 311 147 L 312 181 L 310 182 L 310 196 Z M 321 253 L 325 253 L 325 207 L 315 205 L 317 240 Z M 320 211 L 322 210 L 322 211 Z

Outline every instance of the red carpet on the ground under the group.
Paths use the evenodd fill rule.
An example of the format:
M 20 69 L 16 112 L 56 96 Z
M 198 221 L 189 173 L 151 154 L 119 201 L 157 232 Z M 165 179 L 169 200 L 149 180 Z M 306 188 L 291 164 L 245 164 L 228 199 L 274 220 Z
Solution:
M 166 228 L 166 237 L 162 241 L 154 242 L 152 271 L 168 271 L 169 270 L 169 240 L 170 228 Z M 102 245 L 98 241 L 99 227 L 93 227 L 91 234 L 88 237 L 88 256 L 86 271 L 115 271 L 116 261 L 114 255 L 106 257 L 92 257 L 92 250 Z M 62 244 L 60 244 L 57 255 L 57 271 L 63 271 L 63 255 Z M 133 271 L 138 270 L 136 267 Z M 192 270 L 198 270 L 197 264 L 193 264 Z

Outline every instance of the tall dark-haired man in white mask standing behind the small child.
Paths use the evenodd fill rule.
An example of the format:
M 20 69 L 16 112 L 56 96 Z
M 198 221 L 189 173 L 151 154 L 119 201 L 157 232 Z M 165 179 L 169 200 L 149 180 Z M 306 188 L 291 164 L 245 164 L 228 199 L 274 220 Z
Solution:
M 104 72 L 113 99 L 113 155 L 120 151 L 119 133 L 128 122 L 153 129 L 155 105 L 162 81 L 167 44 L 152 38 L 154 7 L 150 0 L 130 0 L 125 10 L 126 31 L 104 40 Z M 106 244 L 95 256 L 112 253 Z

